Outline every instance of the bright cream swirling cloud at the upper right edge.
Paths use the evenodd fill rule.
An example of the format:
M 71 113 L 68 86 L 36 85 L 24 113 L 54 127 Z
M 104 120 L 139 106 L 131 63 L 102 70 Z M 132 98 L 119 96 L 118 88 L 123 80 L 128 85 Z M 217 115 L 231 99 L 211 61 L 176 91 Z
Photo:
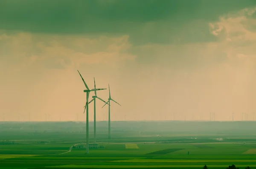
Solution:
M 256 8 L 246 8 L 219 17 L 209 23 L 212 34 L 218 37 L 219 46 L 233 65 L 247 69 L 251 74 L 256 66 Z

